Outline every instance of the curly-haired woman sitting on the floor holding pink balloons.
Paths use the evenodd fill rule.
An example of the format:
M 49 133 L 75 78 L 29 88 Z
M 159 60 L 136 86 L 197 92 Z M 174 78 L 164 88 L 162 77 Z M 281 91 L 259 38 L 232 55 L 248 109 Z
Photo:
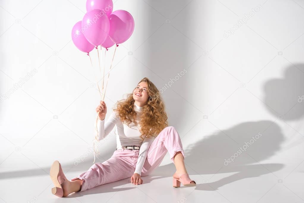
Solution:
M 74 177 L 65 177 L 61 164 L 55 161 L 50 177 L 55 185 L 52 193 L 66 197 L 73 192 L 85 191 L 98 185 L 130 177 L 133 184 L 143 184 L 147 176 L 162 162 L 169 152 L 176 167 L 173 187 L 196 186 L 185 168 L 185 154 L 180 136 L 168 126 L 164 102 L 156 86 L 144 77 L 126 99 L 117 102 L 105 122 L 107 106 L 104 101 L 96 108 L 98 114 L 98 141 L 104 139 L 116 126 L 117 148 L 112 157 L 103 163 L 93 164 L 88 171 Z

